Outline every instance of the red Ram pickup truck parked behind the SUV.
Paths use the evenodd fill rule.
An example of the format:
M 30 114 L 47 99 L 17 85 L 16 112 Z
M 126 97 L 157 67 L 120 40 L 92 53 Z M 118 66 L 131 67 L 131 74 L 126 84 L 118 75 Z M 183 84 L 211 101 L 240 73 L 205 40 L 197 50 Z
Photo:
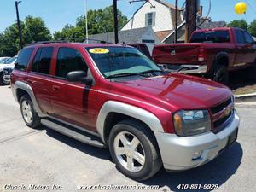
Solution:
M 193 32 L 189 43 L 155 46 L 153 60 L 170 70 L 203 74 L 227 84 L 229 71 L 255 64 L 256 44 L 240 28 L 198 30 Z

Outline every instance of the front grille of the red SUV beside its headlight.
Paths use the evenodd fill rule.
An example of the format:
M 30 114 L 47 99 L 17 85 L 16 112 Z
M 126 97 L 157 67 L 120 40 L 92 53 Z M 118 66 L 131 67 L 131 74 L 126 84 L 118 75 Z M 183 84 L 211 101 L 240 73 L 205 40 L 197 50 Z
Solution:
M 234 103 L 230 97 L 225 102 L 220 103 L 218 106 L 211 108 L 213 120 L 213 132 L 217 133 L 224 129 L 230 123 L 234 116 Z

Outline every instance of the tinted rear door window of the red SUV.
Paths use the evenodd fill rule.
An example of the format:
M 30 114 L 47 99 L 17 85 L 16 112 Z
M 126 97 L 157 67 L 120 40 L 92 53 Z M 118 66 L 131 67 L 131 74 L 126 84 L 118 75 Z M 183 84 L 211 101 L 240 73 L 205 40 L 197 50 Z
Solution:
M 54 52 L 53 47 L 38 49 L 38 53 L 32 64 L 32 72 L 49 74 L 50 61 Z

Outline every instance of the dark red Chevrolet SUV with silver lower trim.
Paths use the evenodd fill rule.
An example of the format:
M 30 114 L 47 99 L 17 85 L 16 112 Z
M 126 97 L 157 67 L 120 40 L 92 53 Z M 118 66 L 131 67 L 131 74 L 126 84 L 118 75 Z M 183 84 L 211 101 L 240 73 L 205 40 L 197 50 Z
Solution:
M 130 46 L 29 45 L 20 52 L 11 86 L 27 126 L 42 124 L 109 148 L 119 171 L 137 180 L 161 166 L 201 166 L 237 137 L 230 89 L 162 71 Z

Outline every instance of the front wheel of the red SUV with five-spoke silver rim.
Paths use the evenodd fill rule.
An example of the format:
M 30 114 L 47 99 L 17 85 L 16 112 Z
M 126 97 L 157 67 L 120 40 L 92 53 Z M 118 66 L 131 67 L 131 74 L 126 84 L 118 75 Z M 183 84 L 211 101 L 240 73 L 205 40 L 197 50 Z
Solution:
M 126 151 L 124 138 L 126 142 L 128 141 Z M 137 141 L 134 142 L 137 145 L 132 146 L 133 141 Z M 154 176 L 162 166 L 159 148 L 153 134 L 148 130 L 148 127 L 133 119 L 123 120 L 113 126 L 108 145 L 113 162 L 119 172 L 132 179 L 146 180 Z M 136 158 L 134 159 L 135 154 Z M 131 163 L 128 164 L 128 161 Z

